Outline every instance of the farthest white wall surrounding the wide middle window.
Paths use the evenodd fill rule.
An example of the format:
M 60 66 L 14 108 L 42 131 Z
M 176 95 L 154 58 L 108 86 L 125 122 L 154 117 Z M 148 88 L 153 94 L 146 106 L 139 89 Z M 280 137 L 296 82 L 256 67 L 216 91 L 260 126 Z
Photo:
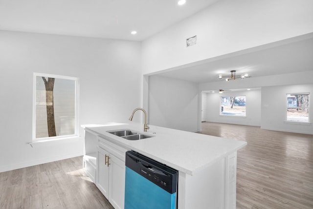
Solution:
M 261 90 L 207 93 L 206 121 L 213 123 L 261 126 Z M 246 96 L 246 117 L 220 115 L 220 98 Z

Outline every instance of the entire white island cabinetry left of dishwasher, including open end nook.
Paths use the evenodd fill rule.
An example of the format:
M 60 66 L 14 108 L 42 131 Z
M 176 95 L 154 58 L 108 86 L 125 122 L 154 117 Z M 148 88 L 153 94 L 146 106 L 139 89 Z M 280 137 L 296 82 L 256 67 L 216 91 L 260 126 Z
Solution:
M 85 173 L 115 209 L 124 209 L 126 151 L 126 148 L 85 129 Z

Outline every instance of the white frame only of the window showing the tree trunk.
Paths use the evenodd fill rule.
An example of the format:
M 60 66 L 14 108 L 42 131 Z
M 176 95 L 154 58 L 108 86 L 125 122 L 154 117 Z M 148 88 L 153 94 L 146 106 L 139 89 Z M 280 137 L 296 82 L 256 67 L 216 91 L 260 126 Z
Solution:
M 74 134 L 36 138 L 36 93 L 37 93 L 37 91 L 36 91 L 37 90 L 36 78 L 37 77 L 49 77 L 49 78 L 56 78 L 56 79 L 67 79 L 67 80 L 72 80 L 72 81 L 75 82 L 75 110 L 74 110 L 74 112 L 75 112 L 75 119 L 74 119 L 75 124 L 74 124 Z M 33 105 L 33 121 L 32 121 L 32 141 L 33 142 L 60 140 L 60 139 L 73 138 L 73 137 L 78 137 L 79 136 L 79 78 L 34 72 L 33 73 L 33 104 L 32 105 Z

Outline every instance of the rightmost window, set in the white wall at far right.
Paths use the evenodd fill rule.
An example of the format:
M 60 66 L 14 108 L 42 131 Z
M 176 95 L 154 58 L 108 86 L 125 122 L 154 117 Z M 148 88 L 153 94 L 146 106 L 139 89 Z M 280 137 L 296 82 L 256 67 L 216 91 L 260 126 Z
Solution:
M 309 94 L 287 94 L 287 121 L 309 123 Z

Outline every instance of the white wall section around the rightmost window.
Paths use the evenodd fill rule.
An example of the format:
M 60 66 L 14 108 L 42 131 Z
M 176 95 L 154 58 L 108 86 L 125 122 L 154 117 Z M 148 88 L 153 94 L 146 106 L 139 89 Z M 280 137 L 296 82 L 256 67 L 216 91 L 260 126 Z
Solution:
M 309 120 L 311 124 L 288 123 L 286 120 L 286 94 L 310 93 Z M 262 87 L 261 128 L 295 133 L 313 134 L 313 84 Z

